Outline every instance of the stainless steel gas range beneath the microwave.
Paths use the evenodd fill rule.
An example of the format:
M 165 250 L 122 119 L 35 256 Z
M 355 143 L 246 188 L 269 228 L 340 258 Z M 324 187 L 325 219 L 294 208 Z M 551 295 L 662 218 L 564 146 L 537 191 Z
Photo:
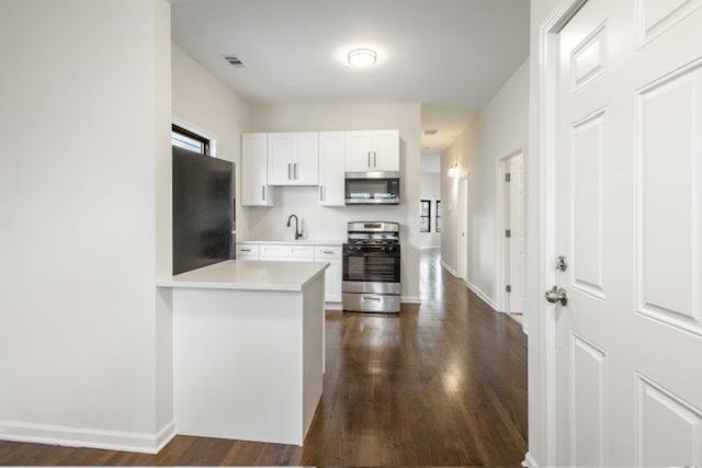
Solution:
M 343 244 L 343 310 L 398 313 L 400 246 L 397 222 L 349 222 Z

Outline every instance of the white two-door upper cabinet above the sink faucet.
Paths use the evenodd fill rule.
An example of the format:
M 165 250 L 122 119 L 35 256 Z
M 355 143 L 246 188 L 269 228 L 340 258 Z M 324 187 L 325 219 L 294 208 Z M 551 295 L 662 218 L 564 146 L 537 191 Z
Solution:
M 268 134 L 270 185 L 317 185 L 318 171 L 318 133 Z

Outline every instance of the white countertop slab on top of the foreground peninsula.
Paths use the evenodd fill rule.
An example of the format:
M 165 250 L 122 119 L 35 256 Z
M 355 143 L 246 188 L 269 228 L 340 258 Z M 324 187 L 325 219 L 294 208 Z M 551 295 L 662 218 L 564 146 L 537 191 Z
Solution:
M 241 290 L 302 290 L 328 263 L 228 260 L 156 282 L 159 287 Z

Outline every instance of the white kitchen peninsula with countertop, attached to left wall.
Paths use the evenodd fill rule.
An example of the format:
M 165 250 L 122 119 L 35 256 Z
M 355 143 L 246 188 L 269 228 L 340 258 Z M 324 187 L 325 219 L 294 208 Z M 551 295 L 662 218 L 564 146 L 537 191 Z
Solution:
M 303 444 L 322 390 L 327 267 L 230 260 L 158 282 L 179 434 Z

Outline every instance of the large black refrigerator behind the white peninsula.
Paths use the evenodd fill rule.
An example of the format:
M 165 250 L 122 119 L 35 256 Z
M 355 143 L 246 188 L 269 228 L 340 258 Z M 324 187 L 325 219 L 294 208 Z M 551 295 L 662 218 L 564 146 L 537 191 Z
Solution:
M 173 147 L 173 274 L 234 258 L 234 163 Z

